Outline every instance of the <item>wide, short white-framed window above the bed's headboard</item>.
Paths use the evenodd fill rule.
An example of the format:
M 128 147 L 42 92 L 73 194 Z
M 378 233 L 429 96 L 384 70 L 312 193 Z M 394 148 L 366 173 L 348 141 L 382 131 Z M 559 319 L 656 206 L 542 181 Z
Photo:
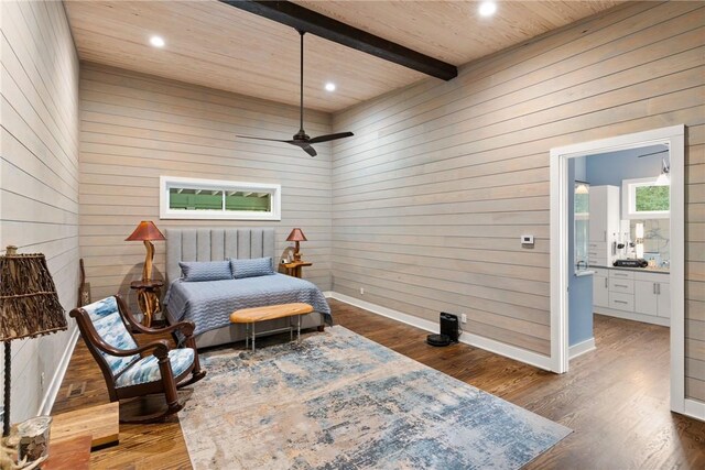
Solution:
M 281 186 L 161 176 L 160 218 L 281 220 Z

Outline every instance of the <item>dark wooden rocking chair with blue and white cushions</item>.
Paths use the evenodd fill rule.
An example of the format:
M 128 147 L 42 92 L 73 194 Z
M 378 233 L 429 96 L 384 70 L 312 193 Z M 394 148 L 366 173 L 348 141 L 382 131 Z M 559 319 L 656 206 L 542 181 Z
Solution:
M 117 295 L 74 308 L 70 316 L 78 323 L 80 336 L 102 371 L 111 402 L 158 393 L 166 397 L 165 409 L 130 419 L 121 417 L 122 423 L 151 423 L 178 412 L 183 404 L 178 403 L 177 389 L 206 375 L 200 370 L 191 321 L 147 328 Z M 139 347 L 131 331 L 145 336 L 181 331 L 186 338 L 185 347 L 170 348 L 165 339 Z

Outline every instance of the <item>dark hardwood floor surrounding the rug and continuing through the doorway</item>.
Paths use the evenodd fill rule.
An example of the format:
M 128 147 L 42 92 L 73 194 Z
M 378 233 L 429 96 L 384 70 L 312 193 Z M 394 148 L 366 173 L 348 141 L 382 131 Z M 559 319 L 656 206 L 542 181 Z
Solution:
M 705 469 L 705 423 L 669 411 L 668 328 L 596 315 L 597 350 L 556 375 L 467 345 L 433 348 L 417 328 L 336 300 L 330 306 L 337 325 L 574 430 L 527 468 Z M 83 394 L 68 396 L 84 383 Z M 79 341 L 53 412 L 106 402 L 100 371 Z M 91 468 L 191 463 L 174 417 L 121 425 L 120 445 L 95 451 Z

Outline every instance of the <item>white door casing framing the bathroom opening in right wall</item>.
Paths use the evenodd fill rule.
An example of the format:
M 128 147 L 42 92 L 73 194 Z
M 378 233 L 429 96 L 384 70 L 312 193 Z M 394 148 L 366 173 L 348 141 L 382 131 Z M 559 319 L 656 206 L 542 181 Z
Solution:
M 705 418 L 694 401 L 685 400 L 685 252 L 684 252 L 684 139 L 685 127 L 674 125 L 646 132 L 619 135 L 599 141 L 551 150 L 551 363 L 554 372 L 568 371 L 568 280 L 573 271 L 568 260 L 568 195 L 575 190 L 568 179 L 571 159 L 621 150 L 666 145 L 670 150 L 670 252 L 671 273 L 671 409 Z M 693 403 L 688 403 L 693 402 Z

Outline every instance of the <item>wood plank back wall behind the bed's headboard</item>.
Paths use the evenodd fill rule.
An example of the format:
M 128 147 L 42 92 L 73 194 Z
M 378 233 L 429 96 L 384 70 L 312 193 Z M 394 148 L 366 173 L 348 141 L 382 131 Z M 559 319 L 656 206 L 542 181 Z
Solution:
M 155 53 L 159 51 L 155 50 Z M 330 130 L 329 114 L 307 111 L 311 135 Z M 140 220 L 158 227 L 275 227 L 280 250 L 293 227 L 308 241 L 304 277 L 330 288 L 329 144 L 318 156 L 275 142 L 299 130 L 299 109 L 96 64 L 80 76 L 80 252 L 94 296 L 134 295 L 144 245 L 127 242 Z M 282 185 L 281 222 L 160 220 L 159 177 L 188 176 Z M 163 275 L 165 245 L 154 269 Z

